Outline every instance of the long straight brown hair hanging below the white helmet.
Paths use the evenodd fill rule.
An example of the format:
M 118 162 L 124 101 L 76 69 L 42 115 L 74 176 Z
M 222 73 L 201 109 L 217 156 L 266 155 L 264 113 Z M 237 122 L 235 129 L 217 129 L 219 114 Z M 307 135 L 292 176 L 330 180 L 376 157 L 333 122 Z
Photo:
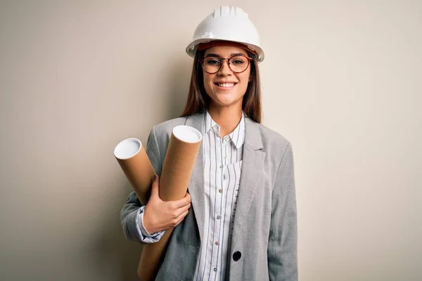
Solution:
M 186 107 L 181 117 L 194 115 L 198 112 L 204 112 L 210 101 L 204 87 L 203 69 L 200 65 L 200 59 L 204 57 L 205 50 L 196 51 L 193 59 L 191 85 L 189 86 L 188 99 Z M 245 115 L 257 123 L 261 123 L 262 105 L 261 105 L 261 81 L 258 62 L 255 55 L 248 52 L 252 60 L 250 61 L 250 81 L 248 88 L 243 96 L 242 110 Z

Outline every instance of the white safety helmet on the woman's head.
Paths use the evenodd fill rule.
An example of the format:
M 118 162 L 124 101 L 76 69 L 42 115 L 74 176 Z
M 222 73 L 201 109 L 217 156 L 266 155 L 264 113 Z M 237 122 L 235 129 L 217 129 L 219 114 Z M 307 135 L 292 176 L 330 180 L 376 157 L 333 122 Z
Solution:
M 207 16 L 193 32 L 191 44 L 186 53 L 195 57 L 198 44 L 210 41 L 234 41 L 247 46 L 256 53 L 258 62 L 264 60 L 264 51 L 260 47 L 260 36 L 249 16 L 241 8 L 221 6 Z

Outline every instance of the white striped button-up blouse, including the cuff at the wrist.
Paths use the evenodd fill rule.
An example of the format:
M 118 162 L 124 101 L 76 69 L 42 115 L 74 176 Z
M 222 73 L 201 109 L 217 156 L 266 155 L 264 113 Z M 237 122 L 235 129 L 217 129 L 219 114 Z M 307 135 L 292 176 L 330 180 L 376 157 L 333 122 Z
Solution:
M 219 136 L 220 127 L 206 112 L 203 126 L 205 229 L 193 280 L 226 279 L 231 247 L 232 226 L 241 179 L 245 116 L 229 135 Z M 143 242 L 158 242 L 164 231 L 149 234 L 143 227 L 143 209 L 139 209 L 136 225 Z

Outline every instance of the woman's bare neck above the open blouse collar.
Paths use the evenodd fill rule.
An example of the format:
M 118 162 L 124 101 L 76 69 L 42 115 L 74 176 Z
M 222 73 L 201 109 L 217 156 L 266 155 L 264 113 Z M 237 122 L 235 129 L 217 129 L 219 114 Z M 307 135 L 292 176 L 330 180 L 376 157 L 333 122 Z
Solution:
M 212 119 L 220 126 L 220 136 L 227 136 L 242 119 L 242 107 L 208 107 Z

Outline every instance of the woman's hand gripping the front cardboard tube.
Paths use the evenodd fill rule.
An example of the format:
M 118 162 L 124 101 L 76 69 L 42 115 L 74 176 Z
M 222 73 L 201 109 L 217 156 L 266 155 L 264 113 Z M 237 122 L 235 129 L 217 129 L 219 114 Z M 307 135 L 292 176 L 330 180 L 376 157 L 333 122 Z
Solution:
M 151 197 L 143 213 L 143 226 L 148 233 L 156 233 L 177 226 L 188 214 L 191 207 L 191 195 L 176 201 L 162 201 L 158 193 L 158 176 L 154 176 Z

